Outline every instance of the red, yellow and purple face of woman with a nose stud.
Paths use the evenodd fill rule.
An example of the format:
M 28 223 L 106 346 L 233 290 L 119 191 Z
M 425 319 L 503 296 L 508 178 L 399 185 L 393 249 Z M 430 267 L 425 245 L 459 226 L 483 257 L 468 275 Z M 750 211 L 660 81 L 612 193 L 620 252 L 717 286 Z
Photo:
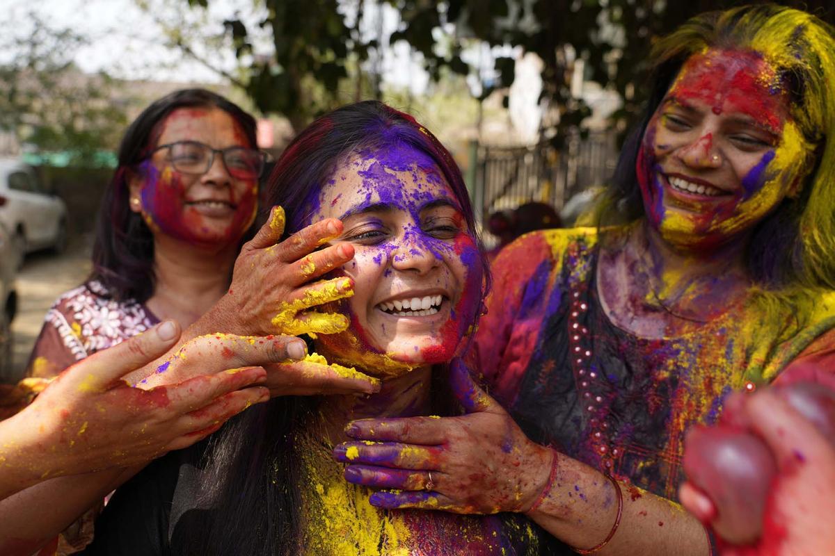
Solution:
M 635 168 L 650 224 L 682 248 L 737 238 L 799 191 L 807 149 L 786 88 L 760 54 L 691 56 L 646 128 Z

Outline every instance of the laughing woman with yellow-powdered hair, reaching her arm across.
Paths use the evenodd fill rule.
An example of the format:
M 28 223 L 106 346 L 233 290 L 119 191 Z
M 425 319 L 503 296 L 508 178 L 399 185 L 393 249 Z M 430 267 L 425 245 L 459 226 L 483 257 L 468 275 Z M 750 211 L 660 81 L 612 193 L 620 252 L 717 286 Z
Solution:
M 445 454 L 436 492 L 376 503 L 483 511 L 496 483 L 524 498 L 547 477 L 528 514 L 581 553 L 704 555 L 704 528 L 671 501 L 686 429 L 715 422 L 735 390 L 835 369 L 832 29 L 773 5 L 707 13 L 656 43 L 653 63 L 610 198 L 630 222 L 532 233 L 493 267 L 473 365 L 530 438 L 504 445 L 553 457 L 500 465 L 484 412 L 359 421 L 354 438 L 391 444 L 350 444 L 349 479 L 385 450 Z

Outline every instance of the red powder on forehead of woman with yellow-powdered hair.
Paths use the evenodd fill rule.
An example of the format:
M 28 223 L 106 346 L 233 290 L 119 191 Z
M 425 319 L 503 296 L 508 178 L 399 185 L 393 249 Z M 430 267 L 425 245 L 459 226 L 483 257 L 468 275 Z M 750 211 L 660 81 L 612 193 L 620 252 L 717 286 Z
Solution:
M 682 104 L 701 101 L 715 114 L 741 113 L 772 133 L 781 133 L 787 114 L 785 92 L 774 87 L 778 84 L 773 69 L 757 53 L 711 51 L 687 60 L 670 96 Z

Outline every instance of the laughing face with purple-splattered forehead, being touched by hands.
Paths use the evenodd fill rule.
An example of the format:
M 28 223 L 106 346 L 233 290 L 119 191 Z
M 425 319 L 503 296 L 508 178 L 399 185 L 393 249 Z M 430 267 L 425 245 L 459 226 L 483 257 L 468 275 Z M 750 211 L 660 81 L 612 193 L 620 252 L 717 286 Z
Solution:
M 357 153 L 316 199 L 310 222 L 339 218 L 356 255 L 344 333 L 319 342 L 342 363 L 392 376 L 448 362 L 472 327 L 483 268 L 458 200 L 431 158 L 407 146 Z M 334 243 L 336 243 L 334 242 Z

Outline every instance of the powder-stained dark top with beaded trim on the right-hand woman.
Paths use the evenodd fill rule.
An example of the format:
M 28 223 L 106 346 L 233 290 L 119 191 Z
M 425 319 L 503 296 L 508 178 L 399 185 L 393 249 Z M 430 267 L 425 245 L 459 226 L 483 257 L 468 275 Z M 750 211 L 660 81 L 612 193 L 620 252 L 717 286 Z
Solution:
M 675 499 L 686 429 L 714 423 L 729 393 L 789 363 L 835 369 L 835 294 L 788 339 L 751 303 L 677 337 L 640 338 L 601 306 L 598 239 L 594 228 L 549 230 L 504 248 L 475 364 L 529 438 Z

